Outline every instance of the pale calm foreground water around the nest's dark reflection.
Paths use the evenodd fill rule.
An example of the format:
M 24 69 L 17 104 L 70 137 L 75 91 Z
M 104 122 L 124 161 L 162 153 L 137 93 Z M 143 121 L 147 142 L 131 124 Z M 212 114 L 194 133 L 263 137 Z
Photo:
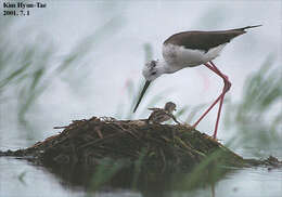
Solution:
M 103 196 L 103 197 L 145 197 L 145 196 L 255 196 L 255 197 L 281 197 L 282 194 L 282 169 L 268 170 L 267 168 L 248 168 L 235 170 L 225 175 L 215 186 L 194 191 L 177 191 L 171 187 L 167 191 L 158 185 L 157 192 L 152 189 L 130 189 L 123 186 L 123 176 L 120 176 L 120 186 L 103 186 L 102 191 L 95 193 L 88 192 L 79 184 L 84 182 L 77 174 L 77 182 L 70 184 L 67 180 L 69 174 L 63 178 L 51 169 L 37 167 L 25 160 L 14 158 L 0 158 L 0 196 L 1 197 L 30 197 L 30 196 L 60 196 L 60 197 L 79 197 L 79 196 Z M 77 172 L 75 172 L 77 173 Z M 84 183 L 85 185 L 89 183 Z

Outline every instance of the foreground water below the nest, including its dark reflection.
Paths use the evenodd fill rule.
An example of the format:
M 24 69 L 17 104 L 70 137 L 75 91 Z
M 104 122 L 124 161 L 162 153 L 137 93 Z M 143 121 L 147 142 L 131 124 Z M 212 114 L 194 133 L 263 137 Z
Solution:
M 282 193 L 282 170 L 266 168 L 233 169 L 213 182 L 209 172 L 201 174 L 202 182 L 189 187 L 188 174 L 141 173 L 132 187 L 132 171 L 121 170 L 98 191 L 91 189 L 95 170 L 79 166 L 38 167 L 14 158 L 0 158 L 0 196 L 273 196 Z M 225 171 L 225 170 L 223 170 Z M 4 173 L 3 173 L 4 172 Z M 20 180 L 20 175 L 25 174 Z

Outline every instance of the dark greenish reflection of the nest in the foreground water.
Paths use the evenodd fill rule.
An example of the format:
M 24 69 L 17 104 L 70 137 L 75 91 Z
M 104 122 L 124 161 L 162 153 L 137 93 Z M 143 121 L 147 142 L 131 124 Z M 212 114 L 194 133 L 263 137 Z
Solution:
M 121 163 L 121 161 L 119 161 Z M 119 165 L 120 165 L 119 163 Z M 60 180 L 63 187 L 70 189 L 82 189 L 88 193 L 95 191 L 138 191 L 143 196 L 166 196 L 174 191 L 193 192 L 210 187 L 215 193 L 215 183 L 226 176 L 234 169 L 209 165 L 206 169 L 193 173 L 194 169 L 187 172 L 174 172 L 171 169 L 156 172 L 150 169 L 141 169 L 136 173 L 134 166 L 124 163 L 121 168 L 113 171 L 118 163 L 99 167 L 87 167 L 82 165 L 54 166 L 46 163 L 47 170 Z M 110 173 L 108 172 L 113 172 Z M 102 176 L 101 176 L 102 174 Z M 108 178 L 108 180 L 105 180 Z

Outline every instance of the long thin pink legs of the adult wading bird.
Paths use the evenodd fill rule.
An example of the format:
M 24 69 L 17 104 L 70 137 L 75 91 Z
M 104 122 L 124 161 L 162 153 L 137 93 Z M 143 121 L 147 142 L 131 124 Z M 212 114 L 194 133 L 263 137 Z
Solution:
M 207 68 L 209 68 L 210 70 L 213 70 L 214 73 L 216 73 L 218 76 L 220 76 L 223 79 L 225 82 L 225 87 L 222 90 L 222 93 L 216 98 L 216 101 L 208 107 L 208 109 L 200 117 L 200 119 L 193 124 L 193 127 L 195 128 L 198 122 L 209 113 L 209 110 L 220 101 L 219 103 L 219 108 L 218 108 L 218 113 L 217 113 L 217 120 L 216 120 L 216 127 L 215 127 L 215 132 L 214 132 L 214 139 L 216 139 L 217 135 L 217 129 L 218 129 L 218 123 L 219 123 L 219 118 L 220 118 L 220 113 L 221 113 L 221 108 L 222 108 L 222 103 L 223 103 L 223 98 L 225 95 L 227 93 L 227 91 L 229 91 L 230 87 L 231 87 L 231 82 L 228 80 L 228 77 L 226 75 L 223 75 L 217 67 L 216 65 L 210 61 L 209 65 L 208 63 L 204 64 Z

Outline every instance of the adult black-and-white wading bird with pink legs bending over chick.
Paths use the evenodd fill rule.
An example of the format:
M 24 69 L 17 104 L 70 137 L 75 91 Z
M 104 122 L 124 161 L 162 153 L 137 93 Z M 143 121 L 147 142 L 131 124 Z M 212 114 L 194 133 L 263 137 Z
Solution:
M 170 36 L 163 44 L 164 60 L 151 61 L 146 63 L 143 68 L 142 74 L 146 81 L 133 111 L 137 110 L 150 83 L 157 77 L 163 74 L 172 74 L 182 68 L 195 67 L 203 64 L 208 69 L 221 77 L 223 79 L 225 86 L 221 94 L 192 127 L 195 128 L 198 122 L 207 115 L 207 113 L 219 102 L 217 120 L 213 135 L 214 139 L 216 139 L 223 98 L 227 91 L 229 91 L 231 87 L 231 82 L 228 80 L 228 76 L 223 75 L 211 61 L 220 54 L 222 49 L 233 38 L 245 34 L 245 30 L 248 28 L 258 26 L 261 25 L 247 26 L 230 30 L 183 31 Z

